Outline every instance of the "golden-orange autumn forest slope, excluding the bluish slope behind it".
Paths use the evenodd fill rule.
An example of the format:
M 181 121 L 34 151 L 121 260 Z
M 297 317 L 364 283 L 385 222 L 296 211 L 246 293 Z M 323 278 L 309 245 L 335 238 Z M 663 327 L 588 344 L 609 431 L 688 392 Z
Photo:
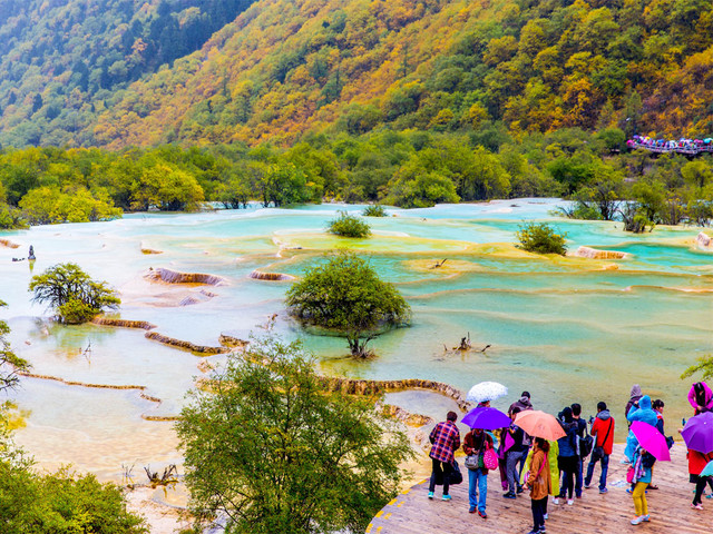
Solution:
M 707 0 L 260 0 L 123 91 L 82 139 L 291 144 L 301 132 L 713 132 Z

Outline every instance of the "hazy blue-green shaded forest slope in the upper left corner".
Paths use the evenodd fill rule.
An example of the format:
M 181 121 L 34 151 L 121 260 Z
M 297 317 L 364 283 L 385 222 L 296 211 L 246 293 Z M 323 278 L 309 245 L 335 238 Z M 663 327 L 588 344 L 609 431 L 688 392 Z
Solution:
M 91 145 L 116 91 L 252 0 L 0 0 L 0 146 Z

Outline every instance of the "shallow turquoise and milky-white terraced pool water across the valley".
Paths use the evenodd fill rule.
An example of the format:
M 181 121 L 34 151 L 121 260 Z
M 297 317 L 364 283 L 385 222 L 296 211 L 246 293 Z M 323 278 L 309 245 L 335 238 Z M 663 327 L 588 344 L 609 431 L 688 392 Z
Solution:
M 115 285 L 123 298 L 117 317 L 148 320 L 170 337 L 216 346 L 221 333 L 246 338 L 279 314 L 276 330 L 289 338 L 303 336 L 325 373 L 428 378 L 463 390 L 498 380 L 512 394 L 495 403 L 499 407 L 529 389 L 536 407 L 554 412 L 579 402 L 588 415 L 603 399 L 619 419 L 631 385 L 639 383 L 666 402 L 667 431 L 674 433 L 676 422 L 690 415 L 690 380 L 678 376 L 696 356 L 713 350 L 713 254 L 693 246 L 697 228 L 633 236 L 621 224 L 553 217 L 556 205 L 518 199 L 392 209 L 394 217 L 370 219 L 374 236 L 363 241 L 323 233 L 336 209 L 362 209 L 335 205 L 129 215 L 111 222 L 2 233 L 21 248 L 0 247 L 0 298 L 9 304 L 0 308 L 0 318 L 10 323 L 13 347 L 33 364 L 33 373 L 145 386 L 146 395 L 162 400 L 146 400 L 136 389 L 26 379 L 12 394 L 29 413 L 17 441 L 41 465 L 71 463 L 106 478 L 119 478 L 121 464 L 176 461 L 170 423 L 141 415 L 176 415 L 193 378 L 203 375 L 198 364 L 224 359 L 166 347 L 146 339 L 144 330 L 48 323 L 27 287 L 32 274 L 60 261 L 75 261 Z M 584 245 L 631 256 L 602 261 L 527 255 L 511 247 L 524 220 L 550 221 L 567 233 L 570 250 Z M 12 263 L 29 245 L 38 257 L 35 265 Z M 163 254 L 145 255 L 141 247 Z M 305 334 L 286 317 L 282 299 L 289 281 L 248 278 L 254 269 L 299 276 L 335 248 L 368 257 L 413 308 L 412 326 L 374 340 L 378 357 L 368 362 L 345 357 L 343 339 Z M 442 268 L 430 268 L 442 259 Z M 603 270 L 606 265 L 618 270 Z M 224 284 L 152 284 L 143 277 L 152 267 L 209 273 Z M 199 301 L 180 306 L 186 297 Z M 468 333 L 475 347 L 490 345 L 485 354 L 445 352 L 445 345 L 456 346 Z M 423 397 L 399 398 L 411 412 L 431 413 L 416 400 Z

